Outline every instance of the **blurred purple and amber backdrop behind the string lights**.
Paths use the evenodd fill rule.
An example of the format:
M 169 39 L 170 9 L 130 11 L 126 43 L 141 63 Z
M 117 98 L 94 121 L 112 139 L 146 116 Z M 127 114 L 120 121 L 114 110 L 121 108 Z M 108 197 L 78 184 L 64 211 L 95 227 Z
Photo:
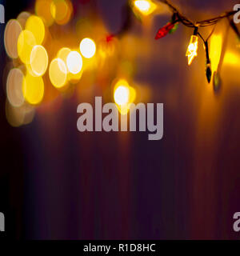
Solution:
M 144 17 L 131 12 L 130 22 L 126 0 L 50 2 L 1 2 L 6 238 L 239 238 L 232 226 L 240 211 L 240 41 L 229 22 L 218 22 L 210 38 L 220 82 L 208 83 L 202 41 L 187 65 L 193 30 L 180 24 L 154 40 L 170 21 L 165 6 Z M 198 21 L 238 2 L 172 3 Z M 200 30 L 207 38 L 212 27 Z M 84 38 L 92 39 L 92 54 L 84 45 L 79 50 Z M 37 45 L 33 55 L 30 47 Z M 70 51 L 70 63 L 81 62 L 81 71 L 68 65 Z M 57 58 L 62 67 L 54 66 Z M 134 89 L 134 102 L 164 103 L 161 141 L 148 141 L 142 132 L 78 132 L 78 104 L 94 103 L 95 96 L 114 102 L 119 79 Z

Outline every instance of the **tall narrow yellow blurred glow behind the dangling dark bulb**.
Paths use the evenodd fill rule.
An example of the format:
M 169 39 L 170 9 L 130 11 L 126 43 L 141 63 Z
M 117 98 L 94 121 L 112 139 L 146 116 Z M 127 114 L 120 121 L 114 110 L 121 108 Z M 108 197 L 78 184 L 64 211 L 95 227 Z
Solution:
M 222 35 L 213 34 L 210 39 L 210 59 L 213 73 L 218 70 L 218 64 L 222 54 Z

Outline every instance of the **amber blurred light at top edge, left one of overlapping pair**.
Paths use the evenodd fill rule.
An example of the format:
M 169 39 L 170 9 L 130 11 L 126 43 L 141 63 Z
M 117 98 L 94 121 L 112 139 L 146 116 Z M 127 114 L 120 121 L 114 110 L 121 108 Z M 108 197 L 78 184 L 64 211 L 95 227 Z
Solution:
M 46 26 L 54 23 L 54 17 L 51 14 L 52 0 L 37 0 L 35 4 L 35 13 L 42 18 Z

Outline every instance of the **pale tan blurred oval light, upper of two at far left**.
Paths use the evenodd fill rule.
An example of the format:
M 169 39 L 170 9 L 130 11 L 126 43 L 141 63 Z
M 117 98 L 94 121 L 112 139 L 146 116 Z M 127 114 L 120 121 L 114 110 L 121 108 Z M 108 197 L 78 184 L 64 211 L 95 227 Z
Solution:
M 7 22 L 4 32 L 4 45 L 10 58 L 18 58 L 18 37 L 21 32 L 22 27 L 17 20 L 11 19 Z

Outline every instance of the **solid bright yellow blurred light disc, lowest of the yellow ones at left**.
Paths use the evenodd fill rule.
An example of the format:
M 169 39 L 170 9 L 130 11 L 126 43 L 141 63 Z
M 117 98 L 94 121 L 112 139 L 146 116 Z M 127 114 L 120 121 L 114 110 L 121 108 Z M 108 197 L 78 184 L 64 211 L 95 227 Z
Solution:
M 22 85 L 23 96 L 31 105 L 38 105 L 44 96 L 44 82 L 42 77 L 33 77 L 27 73 Z

